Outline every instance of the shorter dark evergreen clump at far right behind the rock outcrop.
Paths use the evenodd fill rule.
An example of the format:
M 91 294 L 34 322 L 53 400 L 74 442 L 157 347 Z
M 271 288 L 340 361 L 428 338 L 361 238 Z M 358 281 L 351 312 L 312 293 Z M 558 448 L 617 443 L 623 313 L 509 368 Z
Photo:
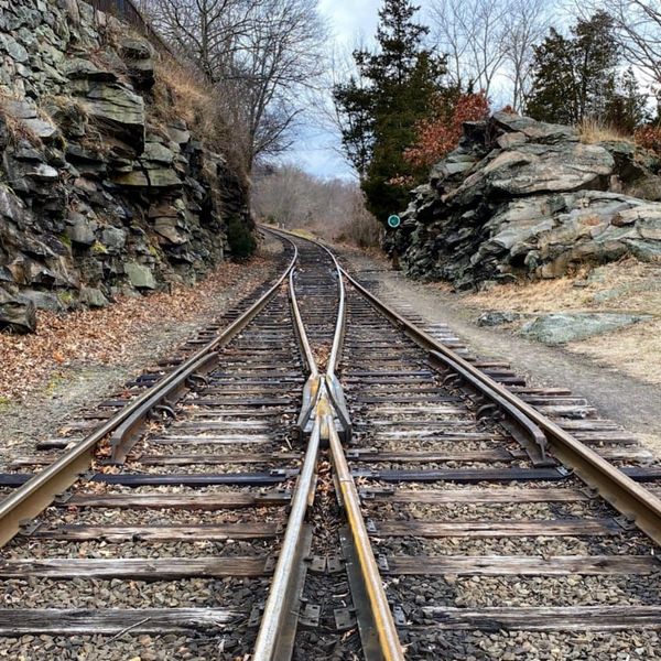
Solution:
M 585 119 L 631 131 L 644 118 L 644 97 L 631 69 L 618 74 L 620 50 L 613 19 L 597 12 L 564 37 L 551 29 L 534 48 L 534 82 L 527 113 L 578 124 Z

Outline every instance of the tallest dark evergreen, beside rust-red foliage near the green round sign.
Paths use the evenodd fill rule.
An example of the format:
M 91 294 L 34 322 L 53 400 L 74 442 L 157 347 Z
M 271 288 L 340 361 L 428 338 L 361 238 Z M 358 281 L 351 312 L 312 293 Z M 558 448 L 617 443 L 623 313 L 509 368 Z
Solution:
M 418 10 L 409 0 L 384 0 L 377 52 L 356 51 L 359 77 L 334 89 L 345 151 L 369 210 L 382 221 L 407 206 L 409 187 L 426 174 L 403 152 L 432 110 L 445 73 L 444 58 L 422 46 L 429 29 L 413 21 Z

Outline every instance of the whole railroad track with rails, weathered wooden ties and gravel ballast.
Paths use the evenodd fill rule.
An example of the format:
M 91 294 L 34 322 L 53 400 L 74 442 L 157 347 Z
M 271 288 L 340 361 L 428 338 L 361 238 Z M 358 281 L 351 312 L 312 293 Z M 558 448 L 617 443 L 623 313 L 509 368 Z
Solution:
M 278 236 L 226 327 L 0 475 L 0 657 L 654 658 L 659 463 Z

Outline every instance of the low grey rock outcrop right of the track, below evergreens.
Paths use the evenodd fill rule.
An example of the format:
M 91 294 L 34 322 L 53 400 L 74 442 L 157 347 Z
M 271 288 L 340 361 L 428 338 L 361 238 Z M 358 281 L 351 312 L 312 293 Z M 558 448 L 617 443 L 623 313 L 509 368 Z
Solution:
M 409 275 L 457 289 L 661 258 L 660 171 L 632 143 L 583 144 L 572 128 L 497 112 L 465 126 L 386 249 Z

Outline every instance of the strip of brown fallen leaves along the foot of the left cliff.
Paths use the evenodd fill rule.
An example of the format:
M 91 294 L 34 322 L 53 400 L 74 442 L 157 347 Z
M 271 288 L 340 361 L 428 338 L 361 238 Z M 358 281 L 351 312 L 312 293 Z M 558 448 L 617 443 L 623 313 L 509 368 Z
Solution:
M 199 321 L 214 310 L 214 297 L 241 281 L 246 290 L 259 283 L 263 258 L 250 266 L 223 263 L 194 288 L 172 293 L 118 297 L 105 310 L 69 314 L 37 313 L 33 335 L 0 334 L 0 401 L 21 401 L 48 383 L 56 383 L 62 369 L 85 365 L 123 365 L 144 335 L 154 327 L 176 322 Z M 253 268 L 254 267 L 254 270 Z

